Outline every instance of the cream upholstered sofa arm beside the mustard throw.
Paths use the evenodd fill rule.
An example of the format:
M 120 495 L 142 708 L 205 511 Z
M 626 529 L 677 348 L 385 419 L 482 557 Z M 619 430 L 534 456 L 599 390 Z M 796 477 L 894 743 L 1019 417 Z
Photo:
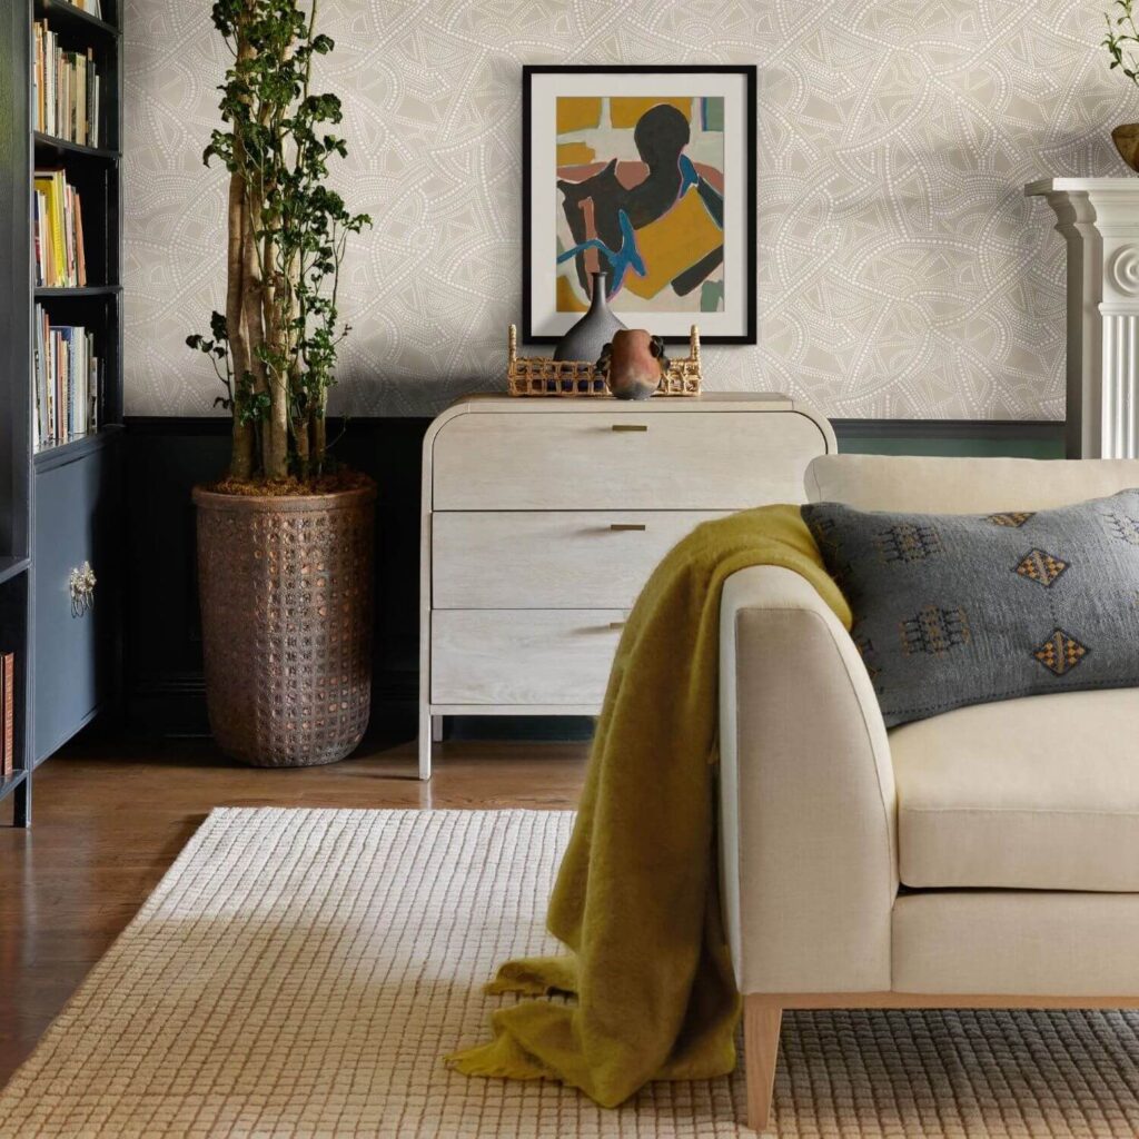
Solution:
M 891 986 L 894 773 L 850 634 L 790 570 L 754 566 L 720 609 L 724 924 L 743 993 Z

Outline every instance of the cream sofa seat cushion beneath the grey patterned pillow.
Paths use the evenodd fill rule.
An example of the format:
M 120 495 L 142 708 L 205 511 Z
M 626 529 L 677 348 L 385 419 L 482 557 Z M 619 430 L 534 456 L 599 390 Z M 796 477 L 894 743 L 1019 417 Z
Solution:
M 1139 688 L 957 708 L 890 734 L 907 886 L 1139 892 Z

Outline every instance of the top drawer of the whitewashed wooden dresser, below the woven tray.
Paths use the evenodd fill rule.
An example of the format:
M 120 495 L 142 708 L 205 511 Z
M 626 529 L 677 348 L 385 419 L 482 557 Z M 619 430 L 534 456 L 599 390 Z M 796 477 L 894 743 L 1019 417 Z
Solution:
M 650 401 L 652 402 L 652 401 Z M 435 510 L 739 510 L 802 502 L 827 441 L 795 411 L 478 412 L 432 449 Z

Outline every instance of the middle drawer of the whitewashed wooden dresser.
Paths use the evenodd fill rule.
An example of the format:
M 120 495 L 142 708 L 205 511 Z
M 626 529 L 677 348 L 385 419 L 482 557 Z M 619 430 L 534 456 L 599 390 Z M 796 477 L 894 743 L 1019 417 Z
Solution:
M 436 609 L 629 608 L 714 510 L 470 510 L 432 516 Z

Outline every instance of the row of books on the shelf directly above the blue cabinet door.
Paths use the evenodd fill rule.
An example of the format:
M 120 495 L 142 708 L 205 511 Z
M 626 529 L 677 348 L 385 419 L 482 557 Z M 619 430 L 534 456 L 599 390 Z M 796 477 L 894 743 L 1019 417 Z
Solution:
M 75 325 L 52 325 L 38 304 L 33 367 L 38 448 L 98 429 L 103 374 L 92 333 Z

